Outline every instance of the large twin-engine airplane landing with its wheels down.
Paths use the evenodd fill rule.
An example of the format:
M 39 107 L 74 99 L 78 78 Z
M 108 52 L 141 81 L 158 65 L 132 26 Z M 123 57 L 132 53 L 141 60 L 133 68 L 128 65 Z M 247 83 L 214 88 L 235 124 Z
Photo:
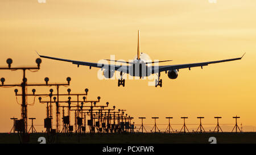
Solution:
M 38 53 L 38 52 L 36 52 Z M 38 53 L 39 55 L 39 53 Z M 242 55 L 242 57 L 245 55 L 245 53 Z M 114 75 L 114 72 L 120 72 L 120 77 L 121 79 L 118 79 L 118 87 L 123 86 L 125 87 L 125 79 L 122 78 L 123 74 L 130 74 L 130 76 L 133 77 L 148 77 L 151 74 L 156 74 L 158 76 L 158 79 L 155 79 L 155 87 L 160 86 L 162 87 L 162 79 L 160 79 L 160 73 L 165 72 L 167 74 L 168 72 L 168 77 L 170 79 L 176 79 L 178 76 L 179 69 L 184 69 L 188 68 L 191 70 L 193 67 L 201 66 L 201 69 L 203 69 L 203 66 L 207 66 L 209 64 L 216 64 L 219 62 L 226 62 L 226 61 L 234 61 L 234 60 L 241 60 L 242 57 L 237 57 L 237 58 L 230 58 L 230 59 L 225 59 L 225 60 L 217 60 L 217 61 L 208 61 L 208 62 L 199 62 L 199 63 L 193 63 L 193 64 L 179 64 L 179 65 L 152 65 L 156 64 L 159 62 L 168 62 L 172 60 L 164 60 L 164 61 L 151 61 L 148 60 L 148 56 L 146 53 L 141 52 L 141 45 L 140 45 L 140 31 L 138 30 L 138 47 L 137 47 L 137 56 L 134 58 L 133 61 L 118 61 L 118 60 L 109 60 L 105 59 L 107 61 L 114 61 L 114 62 L 121 62 L 124 64 L 129 64 L 129 65 L 116 65 L 116 64 L 102 64 L 102 63 L 94 63 L 94 62 L 85 62 L 85 61 L 76 61 L 76 60 L 68 60 L 64 58 L 56 58 L 56 57 L 49 57 L 49 56 L 43 56 L 39 55 L 40 57 L 43 58 L 49 58 L 53 60 L 59 60 L 59 61 L 67 61 L 67 62 L 72 62 L 72 64 L 77 65 L 84 65 L 84 66 L 89 66 L 91 69 L 92 67 L 94 68 L 101 68 L 101 70 L 104 69 L 104 77 L 105 78 L 112 78 Z M 152 66 L 151 66 L 152 65 Z

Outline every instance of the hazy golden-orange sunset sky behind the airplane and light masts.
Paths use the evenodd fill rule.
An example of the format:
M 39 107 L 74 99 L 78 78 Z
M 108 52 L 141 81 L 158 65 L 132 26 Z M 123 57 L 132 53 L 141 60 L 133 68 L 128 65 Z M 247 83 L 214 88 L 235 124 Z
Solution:
M 161 65 L 221 60 L 246 52 L 242 60 L 212 64 L 203 70 L 180 69 L 174 80 L 162 73 L 162 88 L 148 86 L 148 80 L 142 79 L 126 80 L 125 87 L 118 87 L 117 79 L 98 79 L 97 68 L 77 68 L 69 62 L 44 58 L 41 69 L 28 71 L 27 78 L 28 83 L 39 83 L 49 77 L 49 82 L 55 83 L 70 76 L 73 93 L 88 88 L 89 99 L 100 96 L 102 104 L 108 101 L 110 106 L 126 109 L 135 117 L 135 124 L 141 123 L 139 116 L 147 118 L 145 124 L 153 123 L 152 116 L 159 116 L 160 124 L 167 124 L 166 116 L 173 116 L 174 124 L 183 123 L 181 116 L 188 116 L 187 123 L 191 124 L 199 122 L 197 116 L 204 116 L 203 123 L 208 124 L 216 122 L 214 116 L 222 116 L 220 123 L 234 123 L 232 117 L 238 115 L 243 129 L 253 131 L 249 126 L 256 126 L 255 6 L 256 1 L 250 0 L 2 0 L 0 66 L 7 66 L 7 58 L 13 58 L 13 66 L 36 66 L 35 50 L 79 61 L 98 62 L 110 55 L 116 60 L 130 60 L 137 52 L 138 30 L 142 52 L 153 60 L 174 60 Z M 0 70 L 1 77 L 6 84 L 20 83 L 22 72 Z M 0 132 L 10 131 L 10 118 L 20 118 L 14 89 L 0 87 Z M 48 90 L 36 88 L 41 93 Z M 34 106 L 28 106 L 30 117 L 42 125 L 46 105 L 36 99 Z

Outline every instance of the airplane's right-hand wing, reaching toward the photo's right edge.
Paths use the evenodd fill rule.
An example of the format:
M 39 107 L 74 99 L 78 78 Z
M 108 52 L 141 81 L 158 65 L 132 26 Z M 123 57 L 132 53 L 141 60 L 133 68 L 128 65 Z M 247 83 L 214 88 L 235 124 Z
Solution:
M 245 55 L 245 53 L 242 55 L 242 57 Z M 154 73 L 158 73 L 158 72 L 164 72 L 167 70 L 179 70 L 179 69 L 183 69 L 183 68 L 192 68 L 192 67 L 197 67 L 197 66 L 201 66 L 201 68 L 203 68 L 203 66 L 207 66 L 209 64 L 216 64 L 219 62 L 226 62 L 226 61 L 234 61 L 234 60 L 241 60 L 242 57 L 238 57 L 238 58 L 230 58 L 230 59 L 225 59 L 225 60 L 218 60 L 218 61 L 208 61 L 208 62 L 199 62 L 199 63 L 193 63 L 193 64 L 180 64 L 180 65 L 164 65 L 164 66 L 158 66 L 158 67 L 154 67 Z

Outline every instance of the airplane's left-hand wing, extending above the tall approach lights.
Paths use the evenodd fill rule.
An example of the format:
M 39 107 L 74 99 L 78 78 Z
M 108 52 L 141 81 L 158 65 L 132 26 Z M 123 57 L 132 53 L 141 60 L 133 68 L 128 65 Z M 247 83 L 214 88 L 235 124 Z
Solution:
M 36 52 L 36 53 L 38 53 L 38 52 Z M 38 55 L 39 55 L 39 53 L 38 53 Z M 95 68 L 113 69 L 118 72 L 122 71 L 123 73 L 127 73 L 127 74 L 129 73 L 129 66 L 100 64 L 100 63 L 85 62 L 85 61 L 75 61 L 75 60 L 68 60 L 68 59 L 64 59 L 64 58 L 49 57 L 49 56 L 42 56 L 42 55 L 39 55 L 39 56 L 43 57 L 43 58 L 49 58 L 52 60 L 72 62 L 72 64 L 75 64 L 77 66 L 84 65 L 84 66 L 89 66 L 90 68 L 95 67 Z

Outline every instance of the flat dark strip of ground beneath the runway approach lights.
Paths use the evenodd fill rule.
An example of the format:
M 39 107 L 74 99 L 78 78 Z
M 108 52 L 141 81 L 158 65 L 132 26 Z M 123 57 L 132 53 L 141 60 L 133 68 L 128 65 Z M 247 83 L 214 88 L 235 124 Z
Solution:
M 68 144 L 209 144 L 209 137 L 216 137 L 218 144 L 225 143 L 254 143 L 256 144 L 256 132 L 243 133 L 86 133 L 66 135 L 59 133 L 49 136 L 46 133 L 30 133 L 29 142 L 39 144 L 39 137 L 46 137 L 46 143 Z M 21 137 L 18 133 L 0 133 L 0 144 L 19 144 Z

